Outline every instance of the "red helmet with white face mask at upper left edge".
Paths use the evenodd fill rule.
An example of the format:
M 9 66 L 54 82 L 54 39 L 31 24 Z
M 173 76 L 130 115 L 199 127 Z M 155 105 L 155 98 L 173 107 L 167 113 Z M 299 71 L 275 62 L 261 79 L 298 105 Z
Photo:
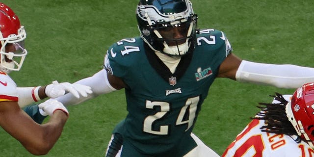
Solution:
M 13 10 L 0 2 L 0 71 L 21 69 L 27 54 L 24 48 L 26 31 Z

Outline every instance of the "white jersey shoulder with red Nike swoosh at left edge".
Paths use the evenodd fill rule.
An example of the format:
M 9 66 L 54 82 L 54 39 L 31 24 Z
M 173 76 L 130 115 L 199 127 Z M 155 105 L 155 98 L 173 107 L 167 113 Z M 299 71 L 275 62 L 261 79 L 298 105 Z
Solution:
M 0 72 L 0 102 L 18 102 L 16 83 L 6 73 Z

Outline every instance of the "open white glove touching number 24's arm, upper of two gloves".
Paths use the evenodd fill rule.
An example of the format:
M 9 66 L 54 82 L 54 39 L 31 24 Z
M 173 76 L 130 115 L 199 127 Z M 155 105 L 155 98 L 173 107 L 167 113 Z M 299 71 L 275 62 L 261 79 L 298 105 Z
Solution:
M 88 94 L 93 93 L 90 86 L 82 84 L 71 84 L 69 82 L 58 83 L 58 81 L 52 81 L 52 84 L 46 86 L 45 93 L 49 98 L 57 98 L 63 96 L 66 91 L 72 93 L 76 98 L 79 95 L 87 97 Z

